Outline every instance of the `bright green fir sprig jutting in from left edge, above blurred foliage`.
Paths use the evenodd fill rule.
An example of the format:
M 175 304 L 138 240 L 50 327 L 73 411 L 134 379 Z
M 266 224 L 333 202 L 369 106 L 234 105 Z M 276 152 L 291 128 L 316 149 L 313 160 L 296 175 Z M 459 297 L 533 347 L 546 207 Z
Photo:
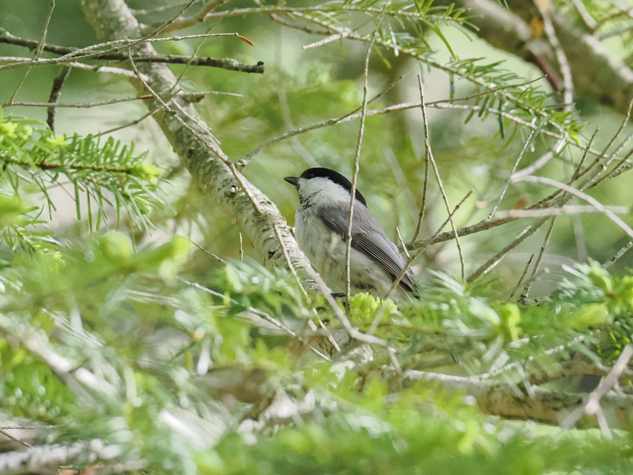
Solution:
M 122 208 L 134 224 L 150 225 L 147 213 L 163 205 L 156 194 L 162 171 L 144 163 L 146 155 L 134 155 L 134 144 L 122 146 L 112 137 L 101 144 L 99 138 L 93 136 L 56 136 L 38 122 L 4 117 L 0 111 L 0 162 L 3 164 L 0 179 L 4 186 L 11 187 L 15 193 L 39 190 L 46 198 L 49 212 L 55 208 L 49 188 L 58 183 L 72 186 L 77 219 L 82 218 L 82 213 L 87 214 L 90 229 L 99 229 L 107 219 L 105 205 L 115 207 L 117 225 Z M 60 175 L 66 178 L 66 183 L 60 183 Z M 84 210 L 80 202 L 82 195 L 86 199 Z M 93 216 L 93 208 L 96 208 L 96 216 Z M 37 219 L 26 223 L 37 224 L 41 224 Z M 13 232 L 18 234 L 15 229 Z M 43 245 L 27 243 L 21 238 L 16 240 L 34 249 Z

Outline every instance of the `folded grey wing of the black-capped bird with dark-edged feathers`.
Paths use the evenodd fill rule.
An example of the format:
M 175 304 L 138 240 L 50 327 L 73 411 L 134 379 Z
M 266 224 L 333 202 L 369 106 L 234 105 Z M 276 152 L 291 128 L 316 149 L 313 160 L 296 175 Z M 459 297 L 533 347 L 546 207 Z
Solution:
M 320 209 L 319 217 L 330 231 L 335 232 L 345 240 L 348 229 L 348 212 L 349 210 L 344 206 L 325 206 Z M 372 213 L 364 205 L 358 203 L 354 206 L 351 238 L 351 246 L 354 249 L 379 263 L 394 279 L 400 275 L 406 262 L 400 255 L 396 244 L 387 238 Z M 406 270 L 400 284 L 408 291 L 417 286 L 411 269 Z

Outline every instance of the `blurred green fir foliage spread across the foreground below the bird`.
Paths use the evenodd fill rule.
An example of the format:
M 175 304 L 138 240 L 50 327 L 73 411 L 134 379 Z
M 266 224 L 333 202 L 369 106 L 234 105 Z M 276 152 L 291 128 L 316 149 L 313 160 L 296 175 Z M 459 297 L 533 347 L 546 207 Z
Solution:
M 44 433 L 58 443 L 103 441 L 108 450 L 96 455 L 104 463 L 220 474 L 630 467 L 624 434 L 606 441 L 591 431 L 530 433 L 481 414 L 463 391 L 398 388 L 380 347 L 359 365 L 299 350 L 247 310 L 309 333 L 310 304 L 300 303 L 287 274 L 233 262 L 210 277 L 218 293 L 209 295 L 174 279 L 189 255 L 183 238 L 135 252 L 111 232 L 61 254 L 66 265 L 42 255 L 0 274 L 3 410 L 51 424 Z M 351 301 L 353 324 L 389 339 L 404 368 L 481 372 L 506 353 L 508 368 L 518 362 L 528 374 L 541 372 L 577 336 L 599 342 L 593 333 L 630 320 L 631 278 L 596 265 L 568 269 L 560 295 L 542 307 L 501 304 L 435 278 L 423 300 L 400 307 L 365 294 Z M 605 317 L 596 317 L 596 305 Z M 517 346 L 517 338 L 528 343 Z M 542 354 L 561 341 L 567 350 Z M 604 351 L 590 348 L 596 357 Z M 270 405 L 282 396 L 289 413 Z

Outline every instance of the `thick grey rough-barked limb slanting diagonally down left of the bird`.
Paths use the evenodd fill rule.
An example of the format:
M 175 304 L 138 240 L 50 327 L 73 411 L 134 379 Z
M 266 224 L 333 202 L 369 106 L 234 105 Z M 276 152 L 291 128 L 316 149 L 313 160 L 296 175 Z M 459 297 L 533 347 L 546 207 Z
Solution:
M 81 3 L 89 22 L 97 34 L 104 39 L 111 41 L 141 36 L 139 23 L 125 1 L 82 0 Z M 156 56 L 156 51 L 149 44 L 138 44 L 132 47 L 130 54 Z M 147 84 L 158 94 L 167 94 L 177 80 L 164 64 L 138 63 L 137 66 L 139 71 L 149 78 Z M 139 94 L 147 93 L 141 81 L 132 80 L 132 83 Z M 215 137 L 198 125 L 203 123 L 203 120 L 197 115 L 191 103 L 180 96 L 175 96 L 172 100 L 177 101 L 180 106 L 175 108 L 176 111 L 179 108 L 185 111 L 185 113 L 179 112 L 180 119 L 220 150 Z M 146 101 L 146 104 L 150 110 L 158 106 L 155 99 Z M 154 119 L 194 180 L 209 195 L 210 203 L 214 203 L 227 215 L 235 217 L 253 242 L 258 255 L 263 258 L 265 265 L 287 268 L 283 249 L 285 248 L 294 267 L 303 271 L 303 282 L 308 286 L 313 286 L 313 280 L 308 277 L 308 272 L 311 270 L 310 263 L 299 250 L 277 206 L 246 178 L 240 176 L 240 181 L 248 187 L 249 193 L 246 193 L 229 166 L 191 131 L 183 127 L 173 115 L 160 110 L 154 114 Z M 248 194 L 258 204 L 259 212 L 255 210 Z M 277 231 L 279 231 L 279 240 Z

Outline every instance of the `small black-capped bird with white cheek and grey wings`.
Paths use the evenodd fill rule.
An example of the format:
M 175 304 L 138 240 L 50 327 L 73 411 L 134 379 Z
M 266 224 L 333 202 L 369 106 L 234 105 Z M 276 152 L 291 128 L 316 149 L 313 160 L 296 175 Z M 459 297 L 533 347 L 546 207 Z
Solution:
M 300 177 L 285 177 L 299 193 L 295 235 L 310 263 L 335 293 L 346 291 L 346 235 L 352 185 L 329 168 L 308 168 Z M 398 247 L 383 231 L 356 189 L 351 227 L 349 284 L 354 293 L 384 298 L 405 267 Z M 411 269 L 404 272 L 391 298 L 415 295 L 418 283 Z

